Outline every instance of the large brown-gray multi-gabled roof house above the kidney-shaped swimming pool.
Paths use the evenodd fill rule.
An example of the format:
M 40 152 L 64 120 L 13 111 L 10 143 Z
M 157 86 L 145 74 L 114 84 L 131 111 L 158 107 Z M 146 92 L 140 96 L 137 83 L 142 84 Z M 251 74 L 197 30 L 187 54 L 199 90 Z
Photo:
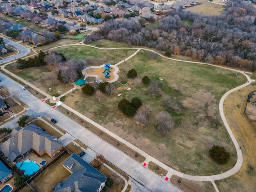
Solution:
M 33 149 L 39 156 L 47 154 L 53 158 L 63 145 L 55 136 L 35 124 L 29 124 L 24 128 L 15 128 L 10 134 L 10 138 L 0 145 L 0 150 L 12 161 L 22 156 L 30 149 Z

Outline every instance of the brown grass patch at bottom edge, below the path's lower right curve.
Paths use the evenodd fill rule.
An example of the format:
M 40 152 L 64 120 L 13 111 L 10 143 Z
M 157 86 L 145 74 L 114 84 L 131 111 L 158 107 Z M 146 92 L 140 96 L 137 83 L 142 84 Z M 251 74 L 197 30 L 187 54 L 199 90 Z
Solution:
M 178 183 L 180 180 L 180 183 Z M 215 191 L 214 186 L 210 181 L 190 181 L 184 178 L 180 178 L 176 175 L 172 175 L 170 178 L 172 184 L 183 190 L 184 192 L 213 192 Z

